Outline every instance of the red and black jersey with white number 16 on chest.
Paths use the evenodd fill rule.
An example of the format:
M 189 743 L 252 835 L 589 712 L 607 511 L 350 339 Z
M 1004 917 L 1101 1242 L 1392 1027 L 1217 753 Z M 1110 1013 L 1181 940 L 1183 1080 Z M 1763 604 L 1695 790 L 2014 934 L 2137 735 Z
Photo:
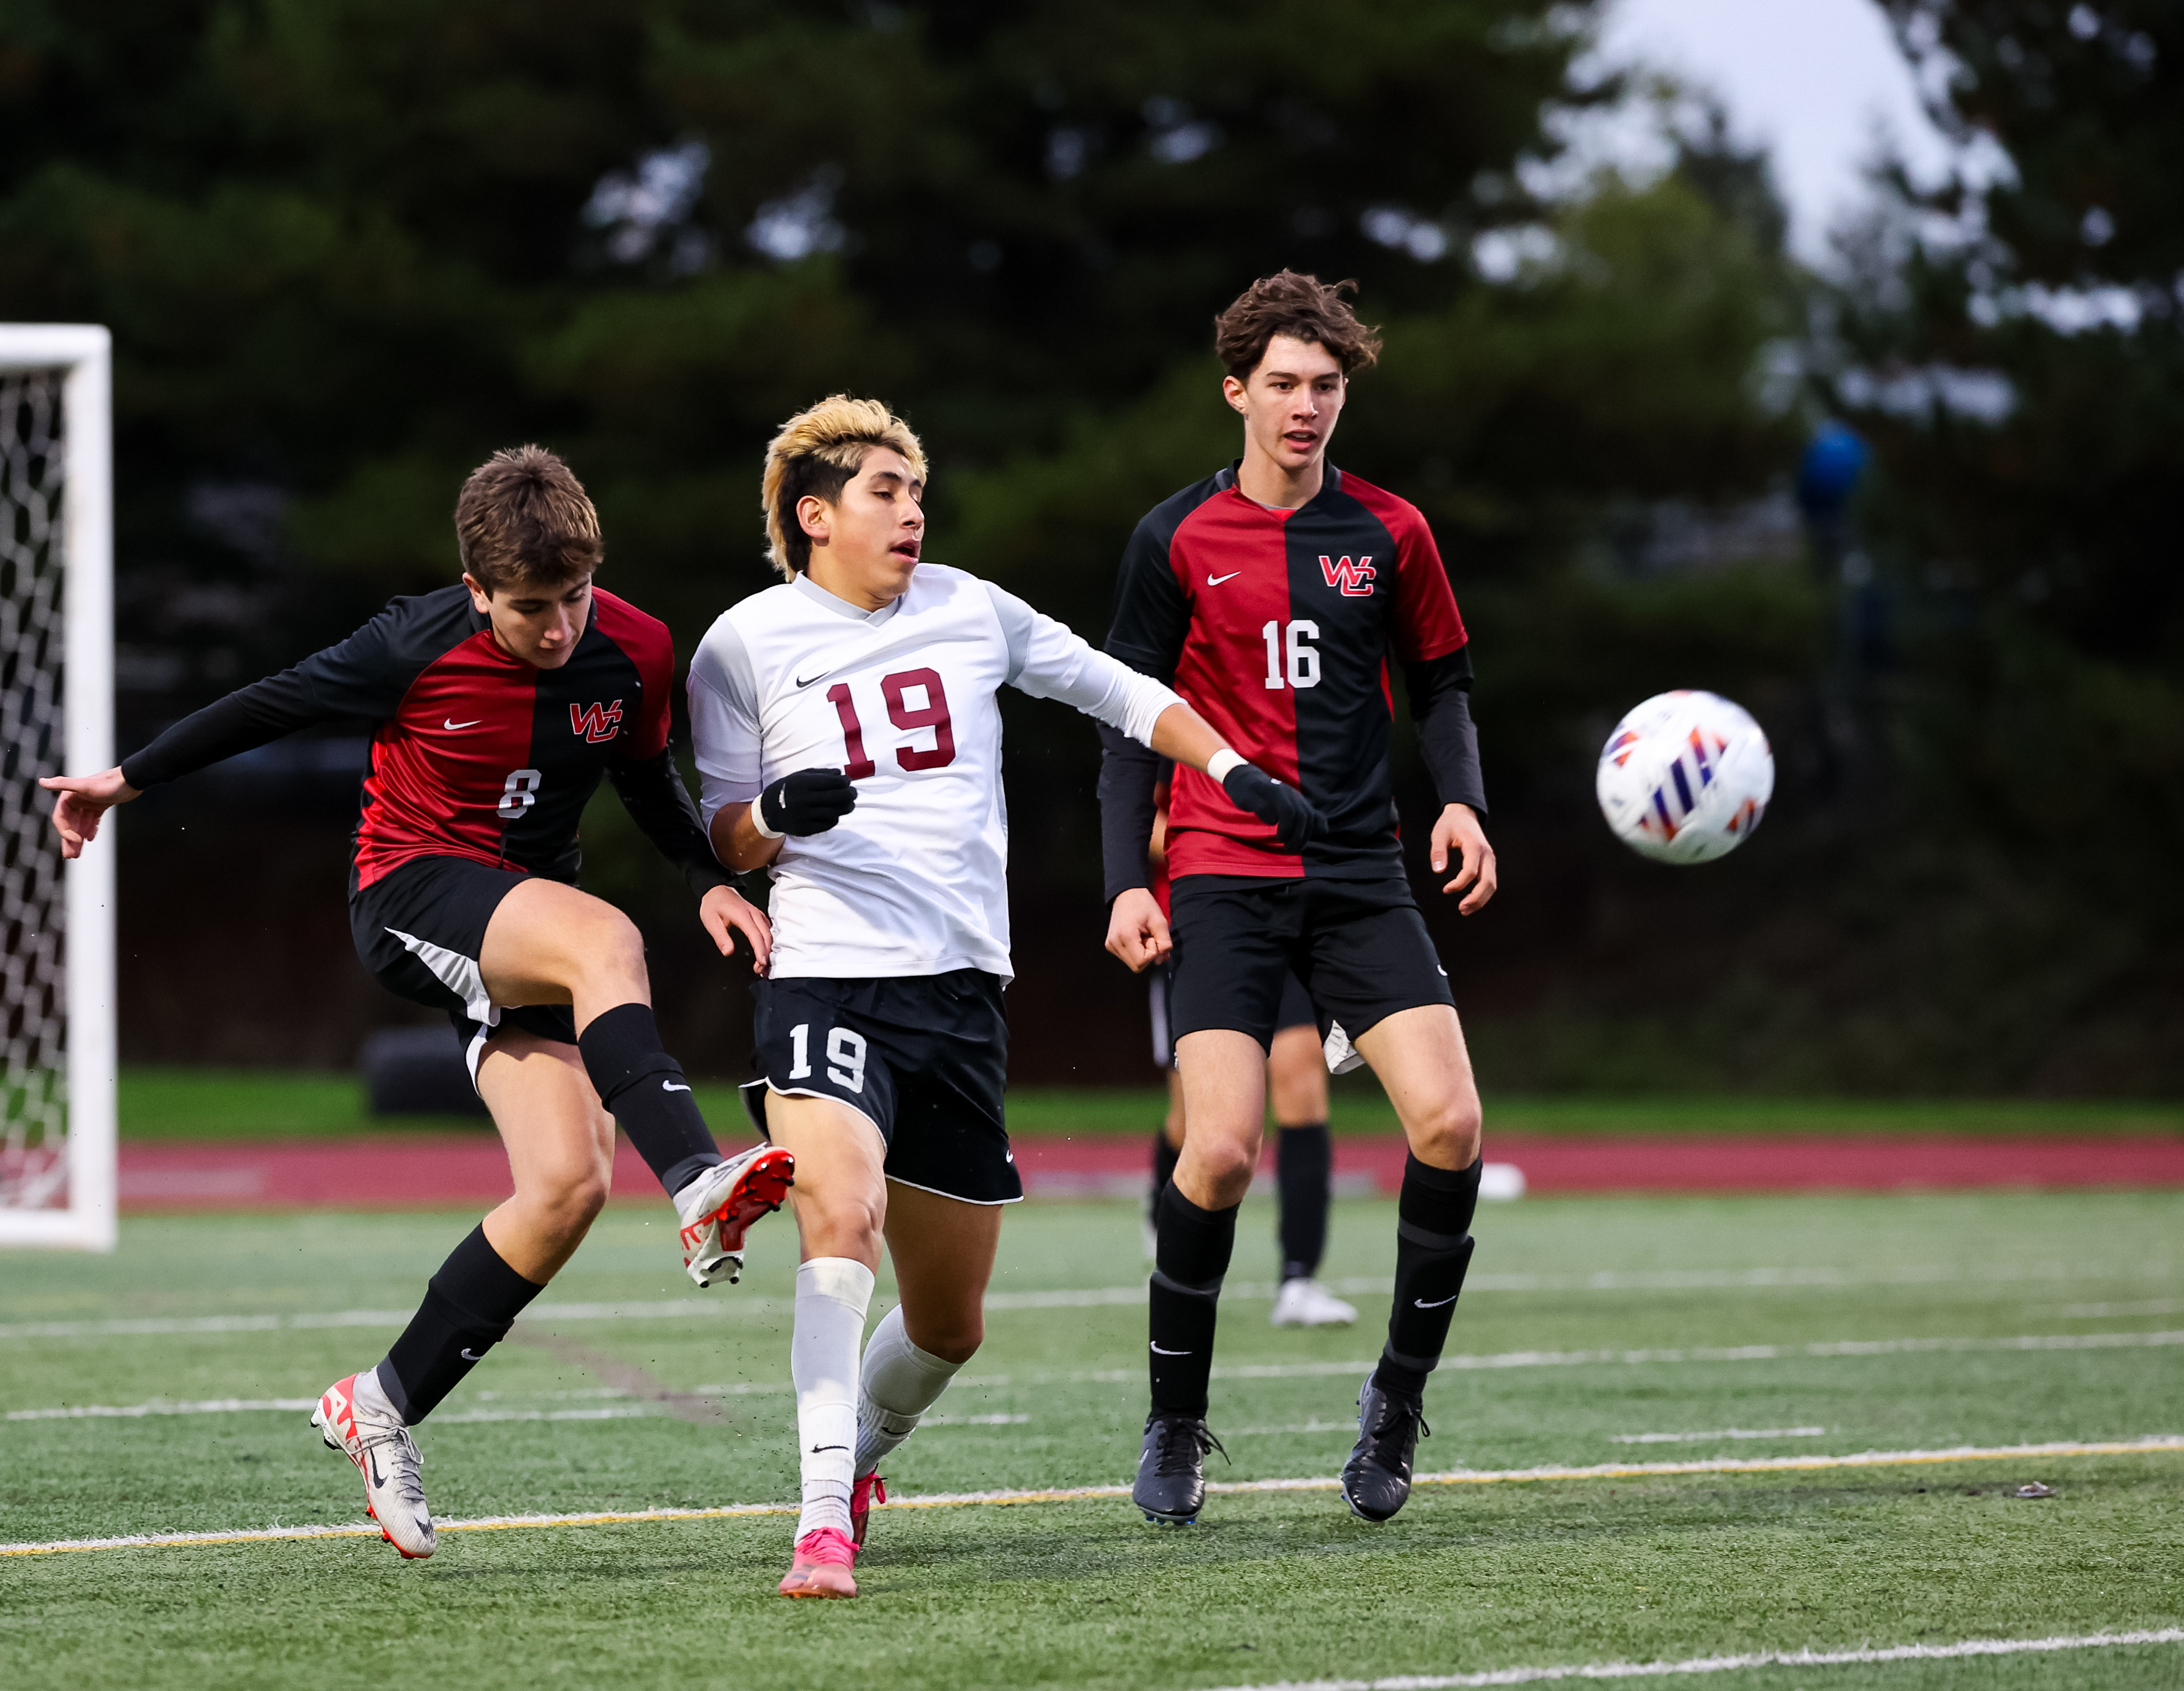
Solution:
M 1158 505 L 1123 553 L 1107 651 L 1171 682 L 1330 824 L 1302 854 L 1282 852 L 1219 782 L 1177 767 L 1168 874 L 1402 874 L 1387 664 L 1428 664 L 1465 642 L 1424 516 L 1372 483 L 1328 465 L 1310 502 L 1275 511 L 1247 498 L 1230 465 Z

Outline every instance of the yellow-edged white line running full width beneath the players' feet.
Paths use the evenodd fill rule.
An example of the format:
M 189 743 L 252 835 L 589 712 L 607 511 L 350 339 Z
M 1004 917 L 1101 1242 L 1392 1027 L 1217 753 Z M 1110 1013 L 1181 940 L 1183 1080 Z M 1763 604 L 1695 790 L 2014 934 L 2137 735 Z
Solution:
M 1452 1468 L 1439 1475 L 1417 1475 L 1413 1486 L 1509 1486 L 1544 1479 L 1649 1479 L 1662 1475 L 1760 1475 L 1811 1473 L 1817 1468 L 1909 1468 L 1937 1462 L 2022 1462 L 2025 1457 L 2097 1457 L 2097 1455 L 2169 1455 L 2184 1453 L 2184 1435 L 2118 1440 L 2108 1444 L 1959 1444 L 1946 1451 L 1859 1451 L 1856 1455 L 1802 1457 L 1717 1457 L 1712 1462 L 1601 1462 L 1586 1468 Z M 1332 1492 L 1339 1479 L 1227 1479 L 1210 1481 L 1208 1492 Z M 1037 1492 L 933 1492 L 928 1497 L 891 1497 L 876 1503 L 882 1510 L 961 1510 L 1005 1503 L 1079 1503 L 1103 1497 L 1129 1497 L 1129 1486 L 1061 1486 Z M 491 1514 L 476 1521 L 441 1521 L 439 1532 L 511 1532 L 524 1527 L 614 1527 L 642 1521 L 723 1521 L 745 1514 L 797 1514 L 799 1503 L 725 1503 L 714 1510 L 625 1510 L 592 1514 Z M 44 1545 L 0 1545 L 0 1556 L 57 1556 L 94 1549 L 175 1549 L 188 1545 L 262 1545 L 280 1538 L 378 1538 L 373 1521 L 328 1527 L 242 1527 L 236 1532 L 131 1534 L 124 1538 L 55 1538 Z M 1393 1680 L 1391 1680 L 1393 1684 Z

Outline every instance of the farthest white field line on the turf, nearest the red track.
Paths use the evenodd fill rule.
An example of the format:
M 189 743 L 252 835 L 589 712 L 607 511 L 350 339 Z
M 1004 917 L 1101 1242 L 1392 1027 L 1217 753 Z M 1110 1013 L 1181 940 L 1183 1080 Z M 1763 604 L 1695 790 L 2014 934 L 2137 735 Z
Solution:
M 1708 1291 L 1708 1289 L 1800 1289 L 1800 1287 L 1891 1287 L 1985 1282 L 2014 1285 L 2022 1280 L 2167 1280 L 2175 1263 L 2151 1261 L 2132 1267 L 2105 1263 L 1911 1263 L 1889 1269 L 1839 1267 L 1752 1267 L 1752 1269 L 1634 1269 L 1599 1274 L 1474 1274 L 1465 1291 Z M 1385 1293 L 1387 1276 L 1328 1280 L 1334 1291 Z M 1223 1298 L 1269 1300 L 1278 1287 L 1271 1280 L 1238 1280 Z M 1142 1304 L 1144 1280 L 1127 1287 L 1066 1287 L 1059 1291 L 994 1291 L 985 1306 L 994 1313 L 1040 1309 L 1103 1309 L 1109 1304 Z M 2073 1304 L 2066 1313 L 2108 1309 Z M 2184 1304 L 2114 1306 L 2116 1313 L 2162 1315 Z M 336 1309 L 323 1313 L 256 1313 L 256 1315 L 138 1315 L 100 1322 L 0 1322 L 0 1341 L 9 1339 L 103 1339 L 157 1337 L 173 1333 L 280 1333 L 328 1326 L 404 1326 L 408 1309 Z M 544 1302 L 533 1304 L 526 1322 L 666 1322 L 666 1320 L 786 1320 L 793 1302 L 786 1298 L 657 1298 L 640 1302 Z

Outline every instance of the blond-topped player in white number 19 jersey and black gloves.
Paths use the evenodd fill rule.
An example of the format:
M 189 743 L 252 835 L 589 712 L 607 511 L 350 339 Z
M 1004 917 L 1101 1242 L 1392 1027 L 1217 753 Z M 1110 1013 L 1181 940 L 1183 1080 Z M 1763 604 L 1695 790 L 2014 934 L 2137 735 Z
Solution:
M 887 406 L 834 395 L 767 452 L 782 586 L 690 662 L 714 852 L 771 867 L 762 1132 L 795 1151 L 791 1372 L 804 1514 L 786 1597 L 854 1597 L 878 1464 L 985 1337 L 1000 1206 L 1024 1195 L 1002 1125 L 1009 821 L 1000 710 L 1061 699 L 1304 841 L 1326 819 L 1221 745 L 1173 690 L 1022 599 L 919 561 L 926 463 Z M 863 1346 L 880 1243 L 902 1302 Z

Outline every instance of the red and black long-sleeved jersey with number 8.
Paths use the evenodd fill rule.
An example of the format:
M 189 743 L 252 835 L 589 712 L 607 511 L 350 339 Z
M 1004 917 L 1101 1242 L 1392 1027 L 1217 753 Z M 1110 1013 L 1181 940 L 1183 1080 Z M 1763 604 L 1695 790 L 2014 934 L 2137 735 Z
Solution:
M 349 889 L 419 856 L 463 856 L 555 880 L 581 863 L 577 821 L 609 778 L 690 878 L 727 885 L 668 754 L 675 640 L 612 592 L 559 669 L 505 653 L 470 590 L 395 599 L 336 647 L 227 695 L 122 765 L 131 787 L 201 769 L 297 728 L 365 717 L 371 769 Z

